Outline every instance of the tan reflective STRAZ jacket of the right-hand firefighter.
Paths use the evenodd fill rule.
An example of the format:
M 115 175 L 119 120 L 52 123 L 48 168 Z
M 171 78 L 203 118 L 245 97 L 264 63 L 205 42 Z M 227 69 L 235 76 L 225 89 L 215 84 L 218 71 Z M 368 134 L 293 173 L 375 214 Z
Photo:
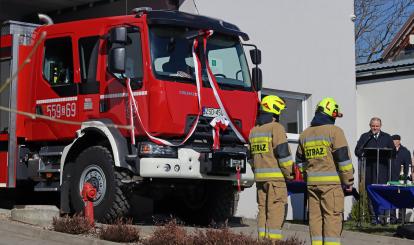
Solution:
M 299 137 L 296 164 L 308 185 L 352 185 L 354 168 L 344 132 L 326 124 L 307 128 Z

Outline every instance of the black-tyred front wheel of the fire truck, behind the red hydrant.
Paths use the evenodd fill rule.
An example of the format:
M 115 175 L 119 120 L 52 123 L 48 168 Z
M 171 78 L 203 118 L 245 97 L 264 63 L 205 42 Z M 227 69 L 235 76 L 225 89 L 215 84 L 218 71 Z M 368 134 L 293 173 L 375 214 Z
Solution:
M 121 180 L 125 172 L 114 167 L 112 154 L 103 146 L 91 146 L 76 159 L 70 183 L 70 200 L 75 212 L 82 212 L 84 202 L 81 192 L 84 183 L 96 188 L 94 217 L 99 222 L 110 223 L 129 211 L 128 200 L 122 190 Z

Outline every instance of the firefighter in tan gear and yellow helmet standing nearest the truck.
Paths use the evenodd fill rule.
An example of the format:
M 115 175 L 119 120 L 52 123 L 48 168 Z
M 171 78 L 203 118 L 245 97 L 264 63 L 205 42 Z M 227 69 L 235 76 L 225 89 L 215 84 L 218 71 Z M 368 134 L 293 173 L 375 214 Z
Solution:
M 283 126 L 278 123 L 285 102 L 275 95 L 263 98 L 256 126 L 250 131 L 252 168 L 257 187 L 258 235 L 282 239 L 287 189 L 285 179 L 293 179 L 293 161 Z

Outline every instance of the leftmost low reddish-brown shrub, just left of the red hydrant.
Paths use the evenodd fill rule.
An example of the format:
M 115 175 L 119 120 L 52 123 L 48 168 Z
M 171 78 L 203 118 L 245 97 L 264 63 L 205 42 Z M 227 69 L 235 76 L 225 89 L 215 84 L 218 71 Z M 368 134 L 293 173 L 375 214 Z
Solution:
M 54 217 L 52 225 L 55 231 L 69 234 L 85 234 L 93 228 L 89 221 L 79 214 L 73 217 L 67 215 L 61 218 Z

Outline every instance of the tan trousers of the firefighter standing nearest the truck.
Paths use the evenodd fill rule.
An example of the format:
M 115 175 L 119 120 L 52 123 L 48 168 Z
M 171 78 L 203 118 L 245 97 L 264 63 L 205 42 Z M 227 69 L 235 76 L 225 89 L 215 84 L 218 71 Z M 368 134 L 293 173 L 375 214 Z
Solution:
M 275 181 L 256 182 L 257 230 L 259 238 L 282 239 L 282 226 L 285 220 L 287 189 L 285 183 Z

